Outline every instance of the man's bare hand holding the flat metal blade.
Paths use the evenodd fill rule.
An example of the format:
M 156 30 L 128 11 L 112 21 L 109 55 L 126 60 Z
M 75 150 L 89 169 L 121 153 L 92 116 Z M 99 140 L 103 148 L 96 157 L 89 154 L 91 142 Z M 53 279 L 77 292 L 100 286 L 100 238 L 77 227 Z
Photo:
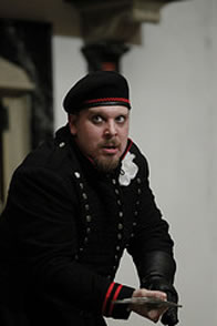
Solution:
M 148 291 L 146 288 L 135 289 L 132 297 L 153 297 L 162 300 L 166 300 L 167 296 L 164 292 Z M 148 305 L 131 304 L 130 309 L 147 319 L 157 323 L 161 316 L 167 310 L 167 308 L 151 309 Z

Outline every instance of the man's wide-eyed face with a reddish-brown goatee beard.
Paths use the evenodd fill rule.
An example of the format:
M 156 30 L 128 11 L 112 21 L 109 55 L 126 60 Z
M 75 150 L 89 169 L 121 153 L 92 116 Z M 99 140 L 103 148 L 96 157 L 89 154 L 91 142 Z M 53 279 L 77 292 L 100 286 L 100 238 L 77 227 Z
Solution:
M 128 120 L 128 109 L 122 105 L 94 106 L 69 115 L 80 150 L 104 172 L 118 165 L 127 144 Z

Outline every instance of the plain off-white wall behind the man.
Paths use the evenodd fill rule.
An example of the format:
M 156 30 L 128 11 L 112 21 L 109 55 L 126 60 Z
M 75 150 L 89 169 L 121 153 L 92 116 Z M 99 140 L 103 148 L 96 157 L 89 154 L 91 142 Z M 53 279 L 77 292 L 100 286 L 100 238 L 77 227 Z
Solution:
M 180 324 L 217 322 L 217 1 L 166 6 L 159 24 L 143 27 L 122 72 L 132 90 L 131 136 L 151 165 L 151 184 L 170 224 L 178 263 Z M 53 39 L 55 126 L 65 123 L 65 91 L 86 71 L 78 39 Z M 137 285 L 125 256 L 117 281 Z M 151 325 L 132 315 L 113 325 Z

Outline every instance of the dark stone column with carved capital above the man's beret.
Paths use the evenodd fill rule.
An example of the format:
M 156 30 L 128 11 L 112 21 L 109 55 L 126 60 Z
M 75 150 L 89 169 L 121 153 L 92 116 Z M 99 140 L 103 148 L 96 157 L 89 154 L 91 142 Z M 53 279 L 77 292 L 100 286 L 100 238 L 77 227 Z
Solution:
M 80 14 L 87 70 L 121 70 L 130 44 L 141 43 L 143 22 L 157 23 L 161 9 L 178 0 L 66 0 Z

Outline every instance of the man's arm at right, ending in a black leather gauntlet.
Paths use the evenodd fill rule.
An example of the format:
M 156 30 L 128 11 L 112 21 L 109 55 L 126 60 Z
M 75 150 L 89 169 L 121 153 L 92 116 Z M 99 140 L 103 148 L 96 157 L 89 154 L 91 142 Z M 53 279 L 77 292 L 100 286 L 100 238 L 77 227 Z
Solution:
M 168 300 L 177 303 L 178 295 L 173 286 L 176 272 L 173 257 L 174 242 L 168 233 L 168 223 L 163 220 L 149 189 L 147 161 L 140 154 L 138 157 L 141 159 L 138 165 L 142 180 L 142 207 L 128 252 L 136 265 L 141 287 L 163 291 L 167 294 Z M 169 308 L 162 322 L 169 326 L 176 325 L 177 309 Z

